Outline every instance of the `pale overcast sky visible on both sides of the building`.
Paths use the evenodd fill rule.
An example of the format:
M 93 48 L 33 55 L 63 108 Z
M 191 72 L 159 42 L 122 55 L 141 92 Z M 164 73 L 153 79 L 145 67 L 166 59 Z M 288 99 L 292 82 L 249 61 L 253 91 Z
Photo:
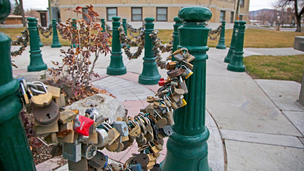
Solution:
M 15 3 L 15 0 L 10 0 Z M 272 8 L 271 3 L 275 0 L 250 0 L 249 11 L 255 11 L 258 9 Z M 23 0 L 24 9 L 47 9 L 47 0 Z

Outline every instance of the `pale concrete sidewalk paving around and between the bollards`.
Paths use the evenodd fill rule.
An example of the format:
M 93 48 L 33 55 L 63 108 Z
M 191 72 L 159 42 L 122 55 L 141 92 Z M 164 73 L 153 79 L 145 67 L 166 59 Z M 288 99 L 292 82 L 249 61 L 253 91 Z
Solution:
M 61 61 L 59 49 L 64 48 L 67 47 L 41 48 L 48 67 L 53 66 L 50 61 Z M 304 54 L 291 48 L 245 48 L 244 51 L 248 55 Z M 304 110 L 296 104 L 301 85 L 291 81 L 254 80 L 245 72 L 230 72 L 223 62 L 227 52 L 228 49 L 215 48 L 207 52 L 206 126 L 210 131 L 207 141 L 210 167 L 213 171 L 304 170 Z M 130 116 L 139 113 L 140 108 L 147 105 L 146 96 L 159 88 L 138 83 L 143 54 L 133 60 L 123 55 L 128 73 L 120 76 L 106 75 L 110 58 L 100 56 L 95 71 L 102 79 L 92 82 L 116 96 Z M 164 53 L 163 58 L 167 55 Z M 14 60 L 19 67 L 14 68 L 14 73 L 25 72 L 29 64 L 28 49 Z M 159 72 L 167 77 L 166 70 L 159 69 Z M 137 152 L 137 146 L 134 143 L 119 153 L 102 152 L 116 162 L 124 162 Z M 160 153 L 162 158 L 158 162 L 164 159 L 166 148 Z M 67 170 L 67 166 L 60 170 Z

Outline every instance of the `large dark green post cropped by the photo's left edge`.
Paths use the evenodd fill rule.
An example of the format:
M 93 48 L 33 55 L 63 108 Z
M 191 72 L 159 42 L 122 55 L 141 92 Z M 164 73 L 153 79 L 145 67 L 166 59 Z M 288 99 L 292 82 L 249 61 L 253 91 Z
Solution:
M 9 0 L 2 0 L 0 21 L 4 21 L 10 11 Z M 35 19 L 32 19 L 33 24 Z M 17 96 L 20 83 L 12 77 L 11 42 L 10 37 L 0 32 L 0 170 L 34 171 L 33 156 L 19 115 L 22 110 L 22 102 Z

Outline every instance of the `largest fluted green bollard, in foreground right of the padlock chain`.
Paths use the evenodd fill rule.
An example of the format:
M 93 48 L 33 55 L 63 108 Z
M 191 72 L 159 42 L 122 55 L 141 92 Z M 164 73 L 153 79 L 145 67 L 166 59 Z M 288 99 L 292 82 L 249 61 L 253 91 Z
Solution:
M 186 47 L 195 56 L 191 62 L 194 74 L 186 79 L 187 105 L 174 110 L 173 133 L 167 141 L 167 154 L 161 163 L 165 171 L 211 171 L 208 164 L 209 130 L 205 126 L 206 108 L 206 59 L 209 50 L 209 28 L 204 22 L 212 17 L 205 7 L 185 7 L 178 17 L 184 24 L 178 27 L 179 45 Z M 198 37 L 200 37 L 198 39 Z

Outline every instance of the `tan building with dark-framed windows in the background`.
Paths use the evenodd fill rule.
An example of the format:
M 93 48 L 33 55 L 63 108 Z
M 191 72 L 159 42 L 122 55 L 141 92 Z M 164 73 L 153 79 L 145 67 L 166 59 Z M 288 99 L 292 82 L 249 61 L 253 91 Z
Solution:
M 203 6 L 210 8 L 212 19 L 210 23 L 219 23 L 225 20 L 233 23 L 237 9 L 237 0 L 59 0 L 61 21 L 76 18 L 76 14 L 66 11 L 92 4 L 100 18 L 111 21 L 112 16 L 126 18 L 128 22 L 143 21 L 146 17 L 154 17 L 156 22 L 173 22 L 179 9 L 186 6 Z M 248 21 L 249 1 L 240 2 L 240 19 Z M 85 10 L 85 9 L 83 9 Z M 233 16 L 233 17 L 232 17 Z

